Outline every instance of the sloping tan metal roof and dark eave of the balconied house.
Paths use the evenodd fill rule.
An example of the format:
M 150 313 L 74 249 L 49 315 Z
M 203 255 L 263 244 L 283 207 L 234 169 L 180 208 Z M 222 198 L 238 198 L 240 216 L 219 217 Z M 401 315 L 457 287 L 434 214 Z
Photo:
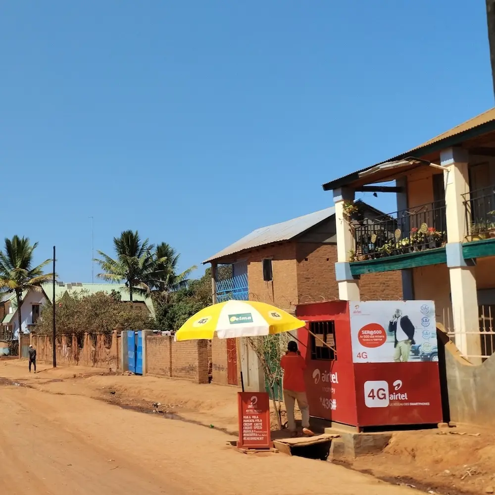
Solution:
M 417 146 L 416 148 L 409 149 L 408 151 L 405 151 L 404 153 L 389 158 L 388 160 L 375 163 L 374 165 L 370 165 L 368 167 L 362 168 L 361 170 L 352 172 L 351 174 L 348 174 L 334 181 L 327 182 L 326 184 L 323 184 L 323 190 L 331 191 L 332 189 L 337 189 L 339 187 L 347 186 L 351 182 L 358 179 L 359 174 L 361 172 L 376 167 L 377 165 L 381 165 L 382 163 L 400 160 L 402 158 L 411 155 L 420 158 L 421 156 L 424 156 L 429 152 L 436 151 L 437 150 L 436 148 L 439 148 L 438 145 L 443 145 L 442 148 L 459 145 L 464 139 L 468 137 L 469 138 L 474 137 L 469 135 L 472 134 L 472 132 L 475 132 L 476 135 L 481 135 L 484 134 L 485 132 L 494 130 L 493 129 L 494 123 L 495 123 L 495 107 L 490 108 L 490 110 L 487 110 L 483 113 L 480 113 L 480 115 L 477 115 L 472 119 L 466 120 L 466 122 L 463 122 L 462 124 L 452 127 L 452 129 L 444 132 L 443 134 L 439 134 L 435 138 L 426 141 L 425 143 Z

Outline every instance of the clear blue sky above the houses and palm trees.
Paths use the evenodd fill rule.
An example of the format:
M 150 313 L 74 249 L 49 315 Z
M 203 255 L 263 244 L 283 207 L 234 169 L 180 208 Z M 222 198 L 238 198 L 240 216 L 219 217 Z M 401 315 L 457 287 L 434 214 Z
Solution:
M 56 245 L 60 279 L 89 282 L 90 216 L 95 249 L 137 229 L 186 268 L 331 206 L 324 182 L 493 106 L 485 15 L 481 0 L 4 2 L 0 237 L 38 241 L 39 261 Z

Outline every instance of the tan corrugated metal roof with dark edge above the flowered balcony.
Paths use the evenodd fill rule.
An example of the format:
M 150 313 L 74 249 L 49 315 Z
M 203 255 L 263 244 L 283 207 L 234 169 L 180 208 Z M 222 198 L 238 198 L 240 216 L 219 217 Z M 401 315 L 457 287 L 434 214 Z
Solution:
M 444 140 L 447 140 L 449 138 L 452 138 L 458 134 L 461 134 L 466 131 L 470 131 L 471 129 L 475 129 L 477 127 L 480 127 L 484 124 L 488 124 L 489 122 L 495 121 L 495 107 L 490 108 L 490 110 L 487 110 L 483 113 L 480 113 L 476 117 L 473 117 L 472 119 L 466 120 L 462 124 L 459 124 L 455 127 L 452 127 L 452 129 L 449 129 L 448 131 L 439 134 L 435 138 L 430 139 L 429 141 L 426 141 L 425 143 L 416 146 L 415 148 L 409 149 L 408 151 L 405 151 L 397 156 L 393 156 L 392 158 L 389 158 L 388 160 L 381 161 L 379 163 L 375 163 L 374 165 L 370 165 L 368 167 L 362 168 L 361 170 L 357 170 L 356 172 L 352 172 L 351 174 L 348 174 L 344 177 L 341 177 L 339 179 L 335 179 L 333 181 L 327 182 L 326 184 L 323 185 L 323 189 L 325 191 L 330 191 L 336 187 L 342 187 L 346 185 L 346 179 L 348 179 L 348 182 L 353 182 L 356 177 L 356 174 L 359 174 L 361 172 L 364 172 L 370 168 L 373 168 L 377 165 L 381 165 L 382 163 L 387 163 L 389 161 L 395 161 L 399 160 L 402 158 L 407 157 L 408 155 L 415 155 L 417 158 L 421 157 L 421 153 L 419 155 L 416 153 L 417 151 L 422 151 L 423 148 L 427 148 L 428 146 L 434 145 L 436 143 L 440 143 Z M 453 145 L 451 145 L 453 146 Z

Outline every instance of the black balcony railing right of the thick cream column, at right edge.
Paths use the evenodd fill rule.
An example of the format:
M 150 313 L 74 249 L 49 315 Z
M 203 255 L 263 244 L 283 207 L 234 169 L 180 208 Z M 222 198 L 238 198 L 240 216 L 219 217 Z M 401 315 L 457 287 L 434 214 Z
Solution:
M 463 194 L 466 231 L 469 241 L 495 236 L 495 186 Z

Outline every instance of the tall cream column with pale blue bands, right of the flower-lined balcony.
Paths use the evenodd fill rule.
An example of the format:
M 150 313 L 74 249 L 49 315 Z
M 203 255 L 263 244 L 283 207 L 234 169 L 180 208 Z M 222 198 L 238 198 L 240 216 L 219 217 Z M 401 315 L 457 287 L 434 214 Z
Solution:
M 448 148 L 441 152 L 440 158 L 442 166 L 447 169 L 444 172 L 446 255 L 455 345 L 465 356 L 479 356 L 481 338 L 474 262 L 465 260 L 462 254 L 462 243 L 467 235 L 462 195 L 469 192 L 468 152 L 462 148 Z M 481 358 L 470 360 L 481 364 Z

